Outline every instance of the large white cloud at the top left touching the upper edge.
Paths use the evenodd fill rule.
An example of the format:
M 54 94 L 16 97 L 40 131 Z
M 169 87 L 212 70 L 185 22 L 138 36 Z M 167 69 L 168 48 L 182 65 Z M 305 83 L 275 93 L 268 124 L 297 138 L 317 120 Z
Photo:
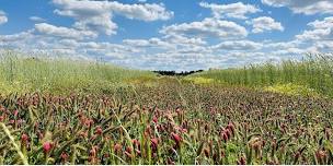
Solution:
M 55 13 L 76 20 L 74 27 L 116 34 L 117 25 L 112 21 L 113 14 L 142 21 L 169 20 L 173 12 L 163 4 L 123 4 L 117 1 L 53 0 L 58 8 Z

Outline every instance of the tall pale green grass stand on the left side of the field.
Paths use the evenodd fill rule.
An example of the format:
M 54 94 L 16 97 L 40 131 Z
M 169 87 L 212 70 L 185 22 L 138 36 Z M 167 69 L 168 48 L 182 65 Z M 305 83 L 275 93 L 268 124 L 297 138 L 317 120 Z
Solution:
M 26 55 L 25 55 L 26 56 Z M 37 58 L 36 58 L 37 57 Z M 130 70 L 102 62 L 22 57 L 14 51 L 0 54 L 0 92 L 93 92 L 105 93 L 125 85 L 125 80 L 153 76 L 148 71 Z

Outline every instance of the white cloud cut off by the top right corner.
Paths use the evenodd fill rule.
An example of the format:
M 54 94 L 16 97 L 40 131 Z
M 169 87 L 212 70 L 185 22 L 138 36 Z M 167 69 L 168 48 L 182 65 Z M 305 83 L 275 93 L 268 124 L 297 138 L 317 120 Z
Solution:
M 332 0 L 262 0 L 264 4 L 273 7 L 287 7 L 294 13 L 315 14 L 333 13 Z

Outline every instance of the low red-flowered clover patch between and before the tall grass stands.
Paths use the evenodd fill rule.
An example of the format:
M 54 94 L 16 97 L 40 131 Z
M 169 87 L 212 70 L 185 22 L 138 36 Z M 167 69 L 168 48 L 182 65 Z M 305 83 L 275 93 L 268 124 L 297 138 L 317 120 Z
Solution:
M 330 99 L 174 82 L 0 103 L 1 164 L 333 164 Z

